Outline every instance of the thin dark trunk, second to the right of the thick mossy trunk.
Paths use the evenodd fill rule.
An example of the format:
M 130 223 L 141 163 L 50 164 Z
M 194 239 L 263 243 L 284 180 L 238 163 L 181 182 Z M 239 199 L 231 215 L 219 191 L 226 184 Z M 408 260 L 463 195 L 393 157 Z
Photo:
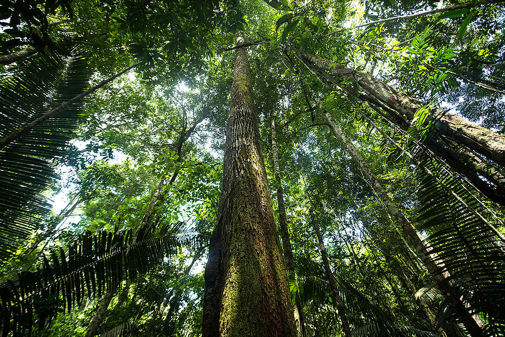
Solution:
M 330 269 L 330 263 L 328 262 L 328 256 L 326 255 L 326 248 L 324 246 L 323 237 L 321 235 L 321 231 L 319 230 L 319 224 L 316 221 L 316 216 L 314 215 L 314 208 L 310 206 L 309 213 L 311 216 L 311 223 L 314 232 L 316 232 L 317 241 L 319 243 L 319 249 L 321 251 L 321 259 L 323 260 L 323 267 L 326 273 L 326 277 L 328 278 L 328 283 L 330 284 L 330 290 L 332 293 L 333 300 L 336 303 L 338 317 L 340 318 L 340 322 L 342 323 L 342 331 L 344 332 L 345 337 L 351 337 L 352 332 L 349 325 L 349 320 L 347 319 L 347 315 L 345 314 L 344 303 L 342 299 L 338 295 L 337 284 L 335 283 L 335 277 L 333 276 L 333 272 Z

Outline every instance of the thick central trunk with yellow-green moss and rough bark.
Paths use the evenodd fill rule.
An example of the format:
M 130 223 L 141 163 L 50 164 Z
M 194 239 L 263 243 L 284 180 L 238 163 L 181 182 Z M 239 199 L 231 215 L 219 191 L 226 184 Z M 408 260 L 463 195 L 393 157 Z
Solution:
M 218 222 L 205 270 L 202 333 L 216 336 L 295 336 L 249 62 L 236 40 L 226 127 Z

